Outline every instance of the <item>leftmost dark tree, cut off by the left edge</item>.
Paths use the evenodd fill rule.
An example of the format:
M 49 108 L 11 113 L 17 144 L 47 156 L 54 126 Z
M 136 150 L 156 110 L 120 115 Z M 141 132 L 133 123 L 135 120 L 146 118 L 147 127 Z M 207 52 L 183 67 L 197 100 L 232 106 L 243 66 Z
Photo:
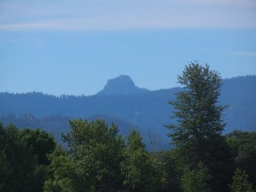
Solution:
M 15 125 L 0 124 L 0 192 L 33 192 L 37 159 L 19 138 Z

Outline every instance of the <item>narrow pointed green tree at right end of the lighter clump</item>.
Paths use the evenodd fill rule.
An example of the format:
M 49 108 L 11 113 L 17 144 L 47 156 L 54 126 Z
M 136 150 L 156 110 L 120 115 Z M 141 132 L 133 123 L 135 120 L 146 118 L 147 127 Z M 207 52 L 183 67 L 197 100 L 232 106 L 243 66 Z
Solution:
M 157 191 L 159 177 L 154 159 L 148 154 L 138 131 L 132 130 L 125 147 L 125 160 L 121 162 L 126 191 Z

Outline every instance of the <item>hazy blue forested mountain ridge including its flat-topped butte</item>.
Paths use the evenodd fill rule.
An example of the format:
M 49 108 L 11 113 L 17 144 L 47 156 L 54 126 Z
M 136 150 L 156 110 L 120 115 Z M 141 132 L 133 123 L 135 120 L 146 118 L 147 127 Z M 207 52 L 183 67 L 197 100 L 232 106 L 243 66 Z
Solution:
M 23 114 L 32 114 L 40 122 L 40 127 L 60 135 L 61 131 L 68 131 L 68 119 L 101 118 L 108 124 L 119 122 L 119 130 L 124 134 L 129 132 L 128 127 L 136 128 L 142 131 L 148 143 L 152 143 L 153 140 L 157 143 L 154 148 L 166 148 L 170 139 L 166 137 L 168 131 L 164 125 L 175 123 L 174 119 L 170 118 L 172 106 L 168 102 L 176 99 L 175 93 L 181 88 L 143 90 L 133 94 L 131 94 L 132 91 L 127 91 L 125 94 L 124 92 L 120 94 L 120 87 L 130 86 L 140 90 L 129 77 L 125 77 L 124 81 L 121 79 L 123 77 L 108 80 L 108 84 L 101 91 L 108 90 L 106 95 L 101 92 L 95 96 L 49 96 L 38 92 L 0 93 L 0 122 L 15 123 L 15 120 L 9 118 L 11 113 L 16 116 L 16 119 Z M 121 82 L 126 83 L 121 84 Z M 223 83 L 219 104 L 229 105 L 229 108 L 224 110 L 223 119 L 227 123 L 225 132 L 256 131 L 256 76 L 224 79 Z M 110 91 L 109 86 L 115 89 L 119 87 L 119 91 Z M 23 119 L 26 120 L 22 121 L 20 128 L 25 126 L 32 128 L 36 125 L 36 120 L 26 123 L 32 118 Z

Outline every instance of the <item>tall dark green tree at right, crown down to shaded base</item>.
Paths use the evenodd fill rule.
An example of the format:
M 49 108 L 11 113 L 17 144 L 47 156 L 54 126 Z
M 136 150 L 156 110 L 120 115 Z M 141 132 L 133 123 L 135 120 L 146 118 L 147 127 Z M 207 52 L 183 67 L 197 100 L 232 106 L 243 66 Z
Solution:
M 218 105 L 222 79 L 208 65 L 191 62 L 178 76 L 178 83 L 183 85 L 183 91 L 177 92 L 177 100 L 170 102 L 177 124 L 167 128 L 180 167 L 187 165 L 193 170 L 202 162 L 212 175 L 212 190 L 226 191 L 230 173 L 219 173 L 232 163 L 230 149 L 221 136 L 225 126 L 222 112 L 226 108 Z

